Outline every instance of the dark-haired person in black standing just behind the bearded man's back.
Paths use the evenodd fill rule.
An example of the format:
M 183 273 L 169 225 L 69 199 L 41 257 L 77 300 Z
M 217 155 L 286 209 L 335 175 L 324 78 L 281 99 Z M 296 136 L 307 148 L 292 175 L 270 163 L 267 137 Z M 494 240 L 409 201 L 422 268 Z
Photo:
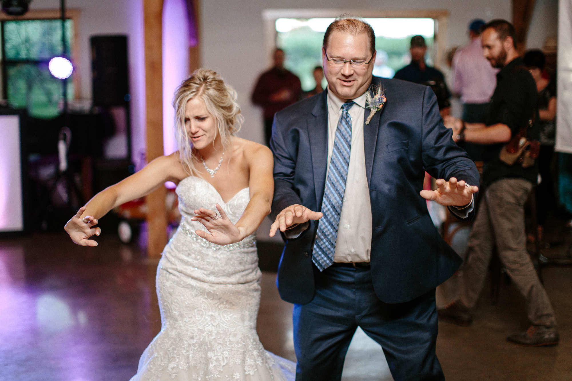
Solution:
M 545 72 L 545 54 L 542 50 L 533 49 L 526 52 L 523 61 L 536 82 L 538 91 L 538 124 L 540 126 L 540 154 L 538 156 L 538 171 L 541 183 L 536 189 L 537 195 L 537 222 L 538 238 L 542 239 L 543 225 L 546 221 L 547 212 L 557 207 L 557 199 L 554 174 L 553 158 L 555 143 L 555 120 L 556 120 L 556 84 L 550 81 L 550 76 Z M 534 241 L 534 234 L 529 235 L 529 240 Z

